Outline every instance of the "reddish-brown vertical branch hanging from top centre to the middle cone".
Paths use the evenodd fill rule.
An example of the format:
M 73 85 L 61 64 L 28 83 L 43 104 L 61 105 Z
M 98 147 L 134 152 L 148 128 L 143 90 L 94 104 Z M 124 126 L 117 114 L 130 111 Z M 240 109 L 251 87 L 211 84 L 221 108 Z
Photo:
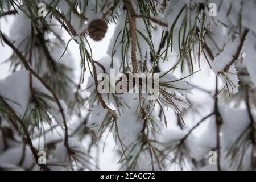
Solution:
M 131 32 L 131 64 L 133 65 L 133 73 L 137 73 L 137 58 L 136 58 L 136 14 L 130 0 L 125 0 L 125 6 L 130 15 L 130 32 Z

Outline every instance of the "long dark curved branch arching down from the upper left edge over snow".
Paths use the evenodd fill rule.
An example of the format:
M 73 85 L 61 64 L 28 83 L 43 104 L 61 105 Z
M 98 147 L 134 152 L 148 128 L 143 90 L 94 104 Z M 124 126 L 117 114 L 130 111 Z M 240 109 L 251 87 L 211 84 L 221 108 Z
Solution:
M 53 96 L 53 99 L 55 100 L 57 106 L 59 107 L 60 113 L 61 113 L 61 117 L 63 118 L 63 123 L 64 123 L 64 127 L 65 127 L 65 139 L 64 139 L 64 146 L 67 148 L 67 151 L 69 153 L 72 154 L 71 152 L 71 148 L 69 147 L 68 144 L 68 126 L 67 126 L 67 121 L 65 119 L 65 114 L 64 114 L 64 109 L 60 104 L 59 99 L 57 98 L 56 93 L 53 91 L 53 89 L 43 80 L 43 78 L 41 78 L 31 67 L 30 65 L 27 63 L 27 60 L 25 59 L 25 57 L 22 55 L 22 53 L 19 52 L 19 50 L 5 37 L 5 35 L 2 34 L 1 32 L 1 37 L 3 39 L 3 42 L 5 42 L 8 46 L 11 47 L 11 49 L 13 49 L 13 51 L 16 53 L 16 55 L 19 57 L 19 59 L 22 61 L 22 63 L 24 64 L 24 67 L 27 69 L 27 71 L 29 71 L 34 77 L 36 77 L 44 86 L 44 88 L 46 88 Z

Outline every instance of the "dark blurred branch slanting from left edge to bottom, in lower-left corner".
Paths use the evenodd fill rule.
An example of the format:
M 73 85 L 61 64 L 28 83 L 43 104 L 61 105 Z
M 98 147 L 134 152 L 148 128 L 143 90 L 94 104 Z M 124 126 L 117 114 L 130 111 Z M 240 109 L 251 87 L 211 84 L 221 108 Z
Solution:
M 22 127 L 24 134 L 26 135 L 25 142 L 28 144 L 28 146 L 30 146 L 30 150 L 32 152 L 32 155 L 34 156 L 35 162 L 36 164 L 38 164 L 38 166 L 42 167 L 43 170 L 45 171 L 49 171 L 49 168 L 45 165 L 40 165 L 38 163 L 38 151 L 34 148 L 32 140 L 30 138 L 30 134 L 28 133 L 27 127 L 24 124 L 24 122 L 22 121 L 22 119 L 20 119 L 18 117 L 18 115 L 16 115 L 15 111 L 11 108 L 11 106 L 3 99 L 2 96 L 0 96 L 0 101 L 2 102 L 3 106 L 5 106 L 5 108 L 9 111 L 10 117 L 14 118 L 16 121 L 18 121 L 18 123 L 20 124 L 20 126 Z

